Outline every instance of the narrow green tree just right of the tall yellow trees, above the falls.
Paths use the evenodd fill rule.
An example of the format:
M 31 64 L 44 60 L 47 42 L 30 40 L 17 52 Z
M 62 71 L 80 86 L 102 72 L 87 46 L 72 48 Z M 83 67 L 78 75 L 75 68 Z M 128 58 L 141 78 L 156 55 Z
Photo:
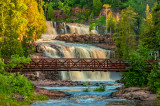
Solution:
M 48 19 L 50 19 L 51 21 L 54 20 L 54 10 L 52 7 L 53 7 L 53 2 L 50 2 L 48 4 L 47 16 L 48 16 Z

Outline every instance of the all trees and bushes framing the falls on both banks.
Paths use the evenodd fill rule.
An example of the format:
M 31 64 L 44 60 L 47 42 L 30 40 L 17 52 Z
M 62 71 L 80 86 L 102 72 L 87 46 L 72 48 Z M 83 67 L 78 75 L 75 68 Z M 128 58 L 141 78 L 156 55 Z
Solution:
M 104 4 L 110 8 L 105 9 Z M 46 31 L 44 10 L 48 20 L 90 23 L 91 35 L 96 25 L 104 26 L 106 32 L 112 33 L 115 58 L 130 60 L 129 72 L 123 73 L 121 80 L 125 87 L 148 86 L 159 93 L 159 63 L 149 67 L 146 60 L 159 58 L 160 0 L 1 0 L 0 58 L 15 59 L 8 65 L 0 61 L 1 70 L 29 63 L 29 58 L 24 58 L 34 51 L 33 42 Z M 149 68 L 151 73 L 146 72 Z M 39 98 L 31 82 L 18 73 L 0 71 L 0 80 L 0 105 L 6 101 L 21 104 L 14 94 L 24 97 L 24 104 Z

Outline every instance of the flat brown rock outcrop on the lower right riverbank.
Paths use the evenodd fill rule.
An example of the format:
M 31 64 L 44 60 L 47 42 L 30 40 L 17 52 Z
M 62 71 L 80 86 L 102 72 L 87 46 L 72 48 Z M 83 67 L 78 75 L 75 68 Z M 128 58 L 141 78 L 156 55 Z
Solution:
M 152 94 L 148 88 L 130 87 L 120 89 L 114 96 L 120 99 L 140 100 L 140 101 L 155 101 L 156 94 Z

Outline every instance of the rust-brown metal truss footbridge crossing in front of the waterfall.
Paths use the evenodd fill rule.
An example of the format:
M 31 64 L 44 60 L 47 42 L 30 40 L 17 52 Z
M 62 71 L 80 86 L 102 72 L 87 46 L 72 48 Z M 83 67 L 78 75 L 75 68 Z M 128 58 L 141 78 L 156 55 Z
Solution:
M 5 60 L 7 62 L 7 60 Z M 12 71 L 128 71 L 129 60 L 92 58 L 40 58 Z M 151 65 L 153 62 L 148 62 Z M 10 70 L 11 71 L 11 70 Z

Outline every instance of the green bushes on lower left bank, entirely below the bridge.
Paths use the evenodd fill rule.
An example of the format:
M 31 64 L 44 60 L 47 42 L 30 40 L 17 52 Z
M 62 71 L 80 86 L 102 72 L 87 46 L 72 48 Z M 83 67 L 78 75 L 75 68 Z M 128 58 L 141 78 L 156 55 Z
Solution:
M 18 106 L 31 104 L 36 100 L 48 100 L 46 96 L 36 95 L 33 84 L 19 73 L 7 73 L 0 71 L 0 105 Z M 12 94 L 20 94 L 25 99 L 18 101 L 12 98 Z

